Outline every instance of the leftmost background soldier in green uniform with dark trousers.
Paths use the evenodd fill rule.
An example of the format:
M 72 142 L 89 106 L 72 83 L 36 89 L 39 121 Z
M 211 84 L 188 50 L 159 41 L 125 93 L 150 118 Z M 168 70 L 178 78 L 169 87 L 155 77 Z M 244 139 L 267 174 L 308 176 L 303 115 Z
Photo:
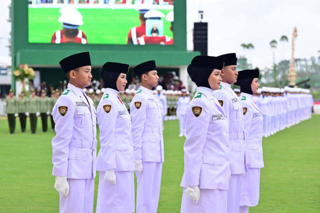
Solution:
M 17 104 L 14 91 L 12 89 L 9 90 L 9 94 L 5 97 L 5 102 L 5 113 L 8 117 L 9 132 L 10 134 L 13 134 L 15 129 L 15 114 L 17 113 Z

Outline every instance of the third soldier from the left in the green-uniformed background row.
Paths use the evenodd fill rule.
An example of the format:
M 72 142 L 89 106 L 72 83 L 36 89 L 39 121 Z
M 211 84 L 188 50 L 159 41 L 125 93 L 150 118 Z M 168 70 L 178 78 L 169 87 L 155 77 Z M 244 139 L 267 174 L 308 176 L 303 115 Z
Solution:
M 36 117 L 39 114 L 39 97 L 35 95 L 35 89 L 33 88 L 31 89 L 27 110 L 30 118 L 31 133 L 34 134 L 36 130 Z

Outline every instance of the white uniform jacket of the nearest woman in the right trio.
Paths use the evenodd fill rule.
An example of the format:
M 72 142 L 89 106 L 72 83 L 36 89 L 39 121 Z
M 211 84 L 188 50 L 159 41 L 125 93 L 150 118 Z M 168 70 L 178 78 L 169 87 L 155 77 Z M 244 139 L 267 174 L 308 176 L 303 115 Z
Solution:
M 197 88 L 184 119 L 186 140 L 180 186 L 228 190 L 228 122 L 211 89 Z

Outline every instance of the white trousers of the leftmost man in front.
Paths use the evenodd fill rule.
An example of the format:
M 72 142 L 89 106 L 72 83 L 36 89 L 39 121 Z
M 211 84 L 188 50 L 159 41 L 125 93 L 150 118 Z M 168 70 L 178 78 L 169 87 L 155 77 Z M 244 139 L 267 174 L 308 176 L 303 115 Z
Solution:
M 94 197 L 94 178 L 68 179 L 69 194 L 59 193 L 60 213 L 92 213 Z

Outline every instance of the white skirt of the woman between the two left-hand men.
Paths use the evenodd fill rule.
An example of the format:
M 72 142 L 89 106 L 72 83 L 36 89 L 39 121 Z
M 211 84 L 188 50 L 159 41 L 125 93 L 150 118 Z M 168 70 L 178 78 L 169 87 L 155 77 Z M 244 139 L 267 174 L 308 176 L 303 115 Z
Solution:
M 105 172 L 99 172 L 96 213 L 134 213 L 133 171 L 114 172 L 115 185 L 104 181 Z

